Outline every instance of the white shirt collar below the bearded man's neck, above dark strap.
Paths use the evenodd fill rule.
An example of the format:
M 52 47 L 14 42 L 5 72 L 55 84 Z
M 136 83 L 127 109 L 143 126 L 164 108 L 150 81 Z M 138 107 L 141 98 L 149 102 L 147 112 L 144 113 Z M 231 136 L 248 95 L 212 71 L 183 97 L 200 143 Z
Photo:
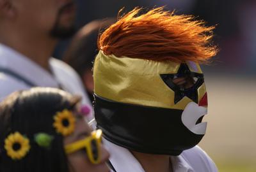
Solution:
M 12 70 L 36 86 L 58 87 L 58 82 L 51 73 L 43 69 L 28 57 L 0 43 L 0 67 Z

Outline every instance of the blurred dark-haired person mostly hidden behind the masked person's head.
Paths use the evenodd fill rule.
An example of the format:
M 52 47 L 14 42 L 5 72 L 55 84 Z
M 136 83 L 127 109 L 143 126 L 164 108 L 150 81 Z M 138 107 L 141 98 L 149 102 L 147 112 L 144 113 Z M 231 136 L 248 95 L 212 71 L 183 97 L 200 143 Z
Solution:
M 67 62 L 79 74 L 91 102 L 93 101 L 92 67 L 94 58 L 98 53 L 98 36 L 100 32 L 114 22 L 113 18 L 109 18 L 107 20 L 94 20 L 84 25 L 74 36 L 63 56 L 63 61 Z

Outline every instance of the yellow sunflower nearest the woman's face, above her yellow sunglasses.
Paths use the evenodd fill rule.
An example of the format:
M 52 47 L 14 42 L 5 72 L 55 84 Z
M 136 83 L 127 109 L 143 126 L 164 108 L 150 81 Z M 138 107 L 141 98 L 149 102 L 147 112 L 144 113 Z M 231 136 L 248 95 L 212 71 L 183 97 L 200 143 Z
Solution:
M 63 110 L 57 112 L 54 116 L 53 126 L 56 128 L 57 133 L 61 133 L 63 136 L 68 136 L 74 132 L 76 119 L 74 118 L 72 111 Z

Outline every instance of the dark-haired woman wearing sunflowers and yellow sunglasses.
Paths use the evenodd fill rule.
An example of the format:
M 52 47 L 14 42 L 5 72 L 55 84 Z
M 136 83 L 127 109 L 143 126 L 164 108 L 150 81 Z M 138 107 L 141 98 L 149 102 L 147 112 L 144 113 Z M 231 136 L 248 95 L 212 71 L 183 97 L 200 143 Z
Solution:
M 102 131 L 84 122 L 80 100 L 40 87 L 6 97 L 0 103 L 0 171 L 109 171 Z

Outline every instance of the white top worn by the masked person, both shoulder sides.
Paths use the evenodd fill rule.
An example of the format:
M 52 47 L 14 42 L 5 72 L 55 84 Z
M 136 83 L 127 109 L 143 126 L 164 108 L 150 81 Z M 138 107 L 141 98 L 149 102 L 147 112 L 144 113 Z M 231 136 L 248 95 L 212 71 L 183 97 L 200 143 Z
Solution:
M 104 146 L 110 153 L 110 162 L 117 172 L 145 172 L 140 162 L 127 150 L 104 139 Z M 185 150 L 179 156 L 170 157 L 173 172 L 217 172 L 211 158 L 196 146 Z M 111 171 L 113 172 L 113 171 Z

